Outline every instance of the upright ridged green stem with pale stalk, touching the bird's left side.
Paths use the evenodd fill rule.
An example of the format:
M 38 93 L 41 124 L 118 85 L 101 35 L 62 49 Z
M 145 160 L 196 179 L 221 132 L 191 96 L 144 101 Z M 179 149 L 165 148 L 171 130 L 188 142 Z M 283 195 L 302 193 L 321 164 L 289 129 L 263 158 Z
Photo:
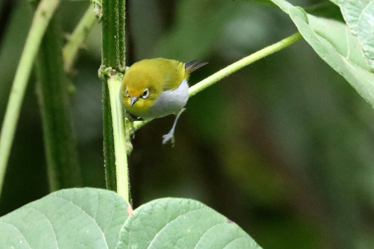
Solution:
M 129 202 L 129 187 L 123 184 L 117 186 L 122 179 L 128 179 L 127 156 L 116 158 L 119 153 L 126 155 L 126 150 L 119 146 L 119 139 L 123 139 L 119 125 L 113 127 L 113 120 L 122 119 L 122 113 L 115 111 L 115 101 L 119 99 L 119 91 L 111 93 L 108 81 L 116 74 L 124 72 L 125 65 L 125 0 L 102 0 L 102 61 L 99 77 L 102 80 L 103 92 L 103 133 L 104 133 L 104 166 L 105 181 L 108 189 L 117 190 Z M 110 96 L 110 94 L 115 94 Z M 114 117 L 113 115 L 120 115 Z M 116 130 L 114 130 L 116 129 Z M 120 137 L 117 137 L 120 136 Z M 119 147 L 118 147 L 119 146 Z M 123 150 L 121 152 L 121 150 Z M 116 174 L 117 171 L 117 174 Z

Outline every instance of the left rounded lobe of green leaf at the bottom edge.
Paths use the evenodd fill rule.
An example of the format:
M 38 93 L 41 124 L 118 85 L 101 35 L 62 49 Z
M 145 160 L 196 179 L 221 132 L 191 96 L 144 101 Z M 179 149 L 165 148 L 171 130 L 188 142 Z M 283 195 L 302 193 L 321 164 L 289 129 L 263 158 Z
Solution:
M 0 247 L 114 248 L 126 206 L 109 190 L 59 190 L 0 217 Z

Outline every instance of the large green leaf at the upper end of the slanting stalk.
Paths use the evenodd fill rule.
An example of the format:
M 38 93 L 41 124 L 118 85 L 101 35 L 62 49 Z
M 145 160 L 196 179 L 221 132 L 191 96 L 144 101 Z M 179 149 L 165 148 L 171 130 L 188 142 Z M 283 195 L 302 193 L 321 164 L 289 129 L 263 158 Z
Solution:
M 310 14 L 305 16 L 300 7 L 284 0 L 272 1 L 291 17 L 315 52 L 374 106 L 374 74 L 362 53 L 362 45 L 347 25 Z

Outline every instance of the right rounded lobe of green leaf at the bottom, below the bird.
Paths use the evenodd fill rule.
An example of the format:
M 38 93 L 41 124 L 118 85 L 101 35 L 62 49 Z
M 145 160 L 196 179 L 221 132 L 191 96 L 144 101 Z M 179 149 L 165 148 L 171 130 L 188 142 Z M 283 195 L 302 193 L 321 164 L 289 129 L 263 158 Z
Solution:
M 135 209 L 117 249 L 261 249 L 238 225 L 204 204 L 164 198 Z

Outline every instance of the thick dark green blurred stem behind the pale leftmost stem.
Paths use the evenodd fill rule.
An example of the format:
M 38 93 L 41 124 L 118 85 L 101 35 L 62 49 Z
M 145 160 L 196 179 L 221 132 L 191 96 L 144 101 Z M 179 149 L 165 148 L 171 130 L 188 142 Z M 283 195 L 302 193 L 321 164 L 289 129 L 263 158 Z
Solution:
M 58 16 L 50 20 L 36 57 L 36 93 L 43 124 L 50 191 L 82 186 L 71 128 L 68 80 L 62 59 Z

